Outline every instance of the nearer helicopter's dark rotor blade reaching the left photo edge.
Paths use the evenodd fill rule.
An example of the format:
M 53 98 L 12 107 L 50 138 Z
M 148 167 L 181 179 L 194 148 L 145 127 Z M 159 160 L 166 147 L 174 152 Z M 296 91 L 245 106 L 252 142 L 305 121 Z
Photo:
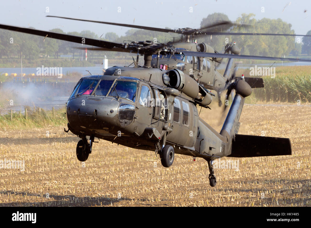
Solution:
M 37 30 L 37 29 L 16 27 L 16 26 L 11 26 L 11 25 L 0 24 L 0 29 L 7 29 L 11 31 L 28 33 L 28 34 L 33 34 L 33 35 L 38 35 L 38 36 L 43 36 L 43 37 L 48 37 L 48 38 L 54 38 L 58 40 L 65 40 L 65 41 L 70 41 L 70 42 L 75 42 L 75 43 L 80 43 L 80 44 L 83 43 L 85 45 L 101 47 L 103 48 L 103 50 L 106 50 L 106 51 L 129 52 L 129 50 L 126 50 L 123 48 L 122 43 L 114 43 L 114 42 L 109 42 L 109 41 L 96 40 L 96 39 L 84 38 L 80 36 L 72 36 L 72 35 L 61 34 L 61 33 L 53 33 L 49 31 L 42 31 L 42 30 Z

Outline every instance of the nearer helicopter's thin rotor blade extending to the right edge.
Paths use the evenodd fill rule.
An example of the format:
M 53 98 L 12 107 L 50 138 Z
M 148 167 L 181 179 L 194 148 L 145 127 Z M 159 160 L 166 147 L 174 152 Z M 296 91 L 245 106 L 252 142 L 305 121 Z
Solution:
M 280 58 L 280 57 L 267 57 L 267 56 L 246 56 L 246 55 L 234 55 L 234 54 L 206 53 L 206 52 L 196 52 L 196 51 L 184 51 L 183 49 L 176 49 L 176 51 L 182 52 L 186 56 L 197 56 L 197 57 L 311 62 L 311 59 L 298 59 L 298 58 L 294 59 L 294 58 Z

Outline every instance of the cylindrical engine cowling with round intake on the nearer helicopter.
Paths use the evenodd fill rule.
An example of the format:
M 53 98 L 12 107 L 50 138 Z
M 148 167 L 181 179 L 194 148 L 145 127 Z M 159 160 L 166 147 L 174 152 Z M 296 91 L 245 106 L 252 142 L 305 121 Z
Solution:
M 181 70 L 174 69 L 163 74 L 163 82 L 166 86 L 177 89 L 191 97 L 200 105 L 209 105 L 212 96 L 189 75 Z

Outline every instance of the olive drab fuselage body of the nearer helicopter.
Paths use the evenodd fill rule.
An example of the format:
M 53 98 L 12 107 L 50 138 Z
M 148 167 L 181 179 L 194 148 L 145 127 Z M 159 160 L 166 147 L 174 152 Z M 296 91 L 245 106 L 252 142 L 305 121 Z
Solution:
M 68 128 L 78 136 L 94 135 L 136 149 L 154 151 L 155 143 L 166 137 L 166 144 L 174 146 L 178 154 L 224 156 L 223 151 L 216 150 L 221 147 L 221 136 L 217 137 L 215 133 L 218 133 L 198 117 L 197 105 L 191 97 L 163 83 L 162 75 L 165 72 L 163 69 L 143 67 L 112 67 L 103 76 L 82 78 L 82 81 L 96 79 L 101 82 L 116 80 L 137 83 L 135 99 L 132 101 L 121 97 L 122 94 L 117 95 L 114 88 L 110 89 L 114 96 L 104 96 L 100 92 L 96 94 L 99 88 L 93 95 L 73 94 L 66 106 Z M 149 104 L 142 102 L 142 93 L 146 91 Z M 161 100 L 160 95 L 164 96 L 165 102 L 157 102 Z M 124 111 L 123 107 L 129 110 Z M 164 118 L 161 116 L 163 109 Z M 124 117 L 125 112 L 131 114 L 125 114 L 127 117 Z M 149 131 L 153 128 L 156 133 Z

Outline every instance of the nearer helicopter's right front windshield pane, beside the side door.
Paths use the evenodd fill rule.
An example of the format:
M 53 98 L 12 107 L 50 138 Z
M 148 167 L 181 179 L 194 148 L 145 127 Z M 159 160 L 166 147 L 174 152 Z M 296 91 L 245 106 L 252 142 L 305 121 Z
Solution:
M 135 102 L 136 91 L 137 82 L 117 80 L 112 86 L 108 96 L 122 97 Z

